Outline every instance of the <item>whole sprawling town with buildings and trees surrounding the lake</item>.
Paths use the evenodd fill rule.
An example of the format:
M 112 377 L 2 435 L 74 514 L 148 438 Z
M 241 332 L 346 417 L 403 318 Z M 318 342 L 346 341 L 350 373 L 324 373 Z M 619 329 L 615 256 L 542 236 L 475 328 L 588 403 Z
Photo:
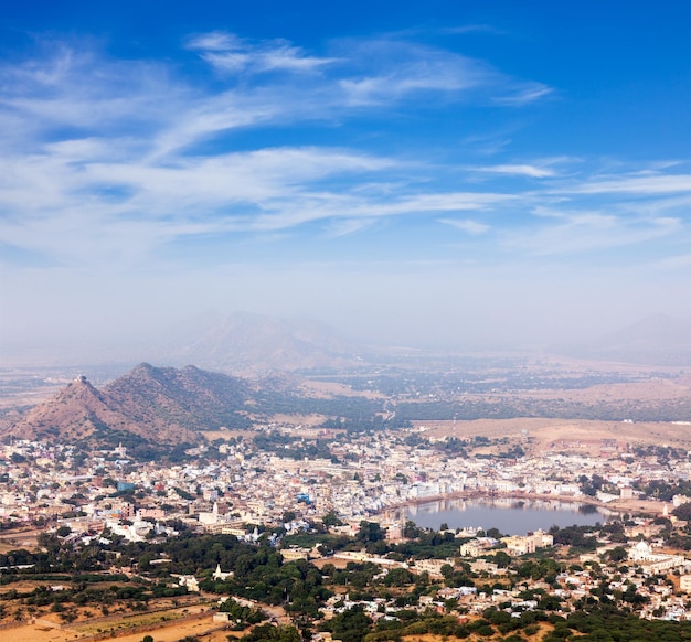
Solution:
M 267 425 L 253 438 L 215 439 L 166 464 L 137 461 L 121 445 L 89 453 L 15 439 L 0 449 L 3 588 L 43 580 L 60 556 L 91 550 L 88 564 L 77 565 L 82 573 L 149 587 L 156 578 L 181 596 L 225 593 L 252 612 L 274 604 L 280 627 L 313 640 L 344 640 L 338 622 L 353 613 L 366 620 L 363 635 L 378 640 L 400 639 L 383 631 L 401 635 L 413 624 L 434 631 L 451 620 L 460 631 L 483 625 L 508 634 L 521 622 L 536 631 L 536 613 L 556 617 L 550 625 L 564 630 L 574 613 L 605 604 L 647 621 L 691 619 L 688 451 L 603 439 L 556 441 L 527 454 L 531 439 L 529 430 L 511 442 L 432 437 L 424 426 L 327 435 Z M 508 534 L 491 523 L 422 528 L 411 518 L 421 502 L 449 497 L 577 504 L 607 517 Z M 277 600 L 270 590 L 240 587 L 237 566 L 224 567 L 222 554 L 205 566 L 176 564 L 166 546 L 192 534 L 214 548 L 268 547 L 284 566 L 316 565 L 323 590 L 307 609 L 293 604 L 295 596 Z M 41 550 L 60 556 L 39 561 Z M 3 608 L 6 625 L 45 619 L 17 591 L 1 597 L 17 603 Z M 24 602 L 31 599 L 24 593 Z M 78 609 L 61 609 L 55 625 L 76 627 Z M 425 619 L 433 612 L 444 625 Z M 213 618 L 220 629 L 228 625 L 217 604 Z M 249 625 L 242 624 L 236 635 Z

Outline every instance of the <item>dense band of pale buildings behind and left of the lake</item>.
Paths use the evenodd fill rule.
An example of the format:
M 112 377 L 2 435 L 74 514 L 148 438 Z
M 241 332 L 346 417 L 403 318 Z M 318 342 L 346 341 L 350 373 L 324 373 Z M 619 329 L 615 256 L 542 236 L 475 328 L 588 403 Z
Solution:
M 85 457 L 68 446 L 15 441 L 0 447 L 0 518 L 36 522 L 73 509 L 72 518 L 89 529 L 129 522 L 123 533 L 129 538 L 170 518 L 217 532 L 244 524 L 291 529 L 330 512 L 358 523 L 406 503 L 464 493 L 578 501 L 585 499 L 583 480 L 598 478 L 606 485 L 588 499 L 605 502 L 632 497 L 636 486 L 651 480 L 691 478 L 688 459 L 665 466 L 616 453 L 487 459 L 428 443 L 411 447 L 407 436 L 351 435 L 333 442 L 331 459 L 301 460 L 259 451 L 245 440 L 221 445 L 214 458 L 201 448 L 190 463 L 166 467 L 135 462 L 123 447 Z

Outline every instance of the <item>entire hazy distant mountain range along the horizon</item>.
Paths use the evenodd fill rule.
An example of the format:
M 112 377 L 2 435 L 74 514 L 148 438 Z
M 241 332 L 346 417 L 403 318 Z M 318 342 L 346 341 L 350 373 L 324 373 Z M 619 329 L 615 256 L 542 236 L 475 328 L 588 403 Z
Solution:
M 102 371 L 109 368 L 104 378 L 124 372 L 142 359 L 176 367 L 193 363 L 208 371 L 256 377 L 272 373 L 333 373 L 368 364 L 393 363 L 402 367 L 435 370 L 448 365 L 451 356 L 464 356 L 464 351 L 444 351 L 438 346 L 426 350 L 364 345 L 319 321 L 249 312 L 204 314 L 177 328 L 161 328 L 159 334 L 160 341 L 150 341 L 147 345 L 88 355 L 63 354 L 60 359 L 64 361 L 55 356 L 46 363 L 53 361 L 61 367 L 79 363 L 84 364 L 81 370 L 89 372 L 97 364 Z M 107 338 L 103 343 L 107 344 Z M 691 320 L 658 314 L 588 342 L 562 342 L 541 350 L 545 351 L 593 361 L 691 366 Z M 466 350 L 465 356 L 468 353 L 474 357 L 482 356 L 479 350 Z

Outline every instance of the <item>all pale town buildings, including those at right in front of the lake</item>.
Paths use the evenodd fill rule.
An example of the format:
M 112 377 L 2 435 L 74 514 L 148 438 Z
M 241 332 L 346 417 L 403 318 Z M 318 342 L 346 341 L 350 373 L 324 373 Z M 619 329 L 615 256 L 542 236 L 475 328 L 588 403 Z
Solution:
M 128 541 L 172 536 L 176 524 L 184 523 L 252 541 L 258 537 L 257 526 L 280 525 L 290 533 L 331 514 L 342 523 L 334 528 L 343 533 L 355 534 L 362 520 L 378 521 L 390 539 L 400 539 L 404 524 L 400 513 L 397 520 L 391 515 L 406 503 L 460 493 L 578 501 L 584 499 L 584 480 L 595 478 L 602 481 L 597 493 L 606 501 L 636 496 L 637 489 L 653 480 L 673 484 L 691 478 L 688 459 L 661 463 L 656 458 L 621 456 L 617 449 L 609 449 L 606 457 L 548 452 L 489 459 L 455 454 L 429 442 L 412 446 L 411 435 L 403 430 L 350 435 L 333 442 L 331 459 L 311 460 L 280 457 L 258 450 L 249 440 L 237 440 L 216 445 L 213 457 L 201 448 L 190 453 L 189 463 L 166 467 L 132 461 L 121 446 L 89 457 L 70 446 L 15 441 L 0 447 L 0 520 L 46 528 L 68 526 L 74 534 L 109 532 Z M 673 503 L 684 501 L 680 495 Z M 659 505 L 660 515 L 667 515 L 667 505 Z M 659 527 L 645 520 L 635 524 L 627 532 L 630 542 L 624 545 L 624 564 L 603 566 L 608 550 L 623 546 L 603 537 L 600 548 L 583 556 L 567 574 L 545 586 L 530 582 L 530 589 L 543 588 L 545 595 L 573 604 L 595 595 L 592 591 L 602 595 L 604 574 L 613 596 L 634 586 L 645 597 L 644 616 L 685 619 L 689 602 L 680 592 L 691 590 L 690 563 L 683 555 L 665 553 Z M 458 556 L 488 578 L 509 573 L 492 561 L 498 549 L 517 557 L 553 545 L 552 536 L 540 531 L 493 538 L 472 526 L 455 533 Z M 286 549 L 285 554 L 298 559 L 313 552 Z M 372 560 L 364 552 L 347 555 Z M 392 566 L 391 560 L 379 563 L 383 573 Z M 438 577 L 445 564 L 454 563 L 418 560 L 410 568 Z M 670 574 L 677 579 L 660 579 Z M 444 590 L 438 600 L 426 599 L 442 603 L 449 599 L 448 589 Z M 453 598 L 467 601 L 470 611 L 498 602 L 525 609 L 530 604 L 520 597 L 524 590 L 522 585 L 509 592 L 466 590 Z

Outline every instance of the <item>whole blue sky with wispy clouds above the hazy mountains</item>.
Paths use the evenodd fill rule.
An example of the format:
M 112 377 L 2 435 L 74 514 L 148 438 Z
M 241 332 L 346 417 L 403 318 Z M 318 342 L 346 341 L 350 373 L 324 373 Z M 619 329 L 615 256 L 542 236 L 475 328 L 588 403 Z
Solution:
M 8 353 L 212 310 L 464 347 L 691 317 L 685 0 L 3 7 Z

